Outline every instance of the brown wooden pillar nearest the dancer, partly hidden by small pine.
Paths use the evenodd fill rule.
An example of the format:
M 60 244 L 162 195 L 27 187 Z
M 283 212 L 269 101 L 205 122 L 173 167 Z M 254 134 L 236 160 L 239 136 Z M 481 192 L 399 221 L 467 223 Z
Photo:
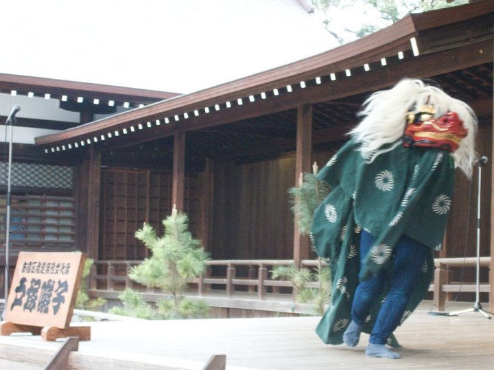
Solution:
M 298 185 L 303 172 L 309 172 L 312 154 L 312 106 L 300 104 L 297 111 L 297 137 L 296 137 L 296 161 L 295 181 Z M 307 235 L 300 235 L 298 222 L 294 224 L 294 262 L 299 267 L 303 259 L 309 258 L 310 244 Z

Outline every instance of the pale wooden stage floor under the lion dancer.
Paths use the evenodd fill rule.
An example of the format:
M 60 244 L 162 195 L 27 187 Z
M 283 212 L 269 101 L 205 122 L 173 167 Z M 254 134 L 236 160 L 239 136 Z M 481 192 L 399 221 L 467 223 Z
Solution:
M 462 308 L 464 305 L 454 309 Z M 122 361 L 143 362 L 142 369 L 202 369 L 214 354 L 226 354 L 226 369 L 231 370 L 489 369 L 494 364 L 494 318 L 486 319 L 480 312 L 448 317 L 416 310 L 397 329 L 403 345 L 397 350 L 402 357 L 399 360 L 367 358 L 366 334 L 354 349 L 325 345 L 314 332 L 319 319 L 100 321 L 89 324 L 92 338 L 80 342 L 79 351 L 71 354 L 69 369 L 138 368 Z M 55 351 L 60 344 L 26 334 L 0 337 L 0 347 L 15 345 L 23 351 Z M 97 365 L 91 367 L 90 363 Z M 5 369 L 1 360 L 0 368 Z M 19 367 L 40 368 L 28 362 Z

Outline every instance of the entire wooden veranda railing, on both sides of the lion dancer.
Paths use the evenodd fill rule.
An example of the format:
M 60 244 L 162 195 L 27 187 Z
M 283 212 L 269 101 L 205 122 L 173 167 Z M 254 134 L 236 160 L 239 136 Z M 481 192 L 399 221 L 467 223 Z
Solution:
M 451 292 L 475 292 L 475 282 L 451 281 L 451 268 L 474 267 L 476 257 L 466 258 L 436 258 L 434 260 L 434 281 L 429 290 L 434 292 L 434 304 L 439 310 L 445 308 L 445 303 Z M 154 290 L 134 283 L 128 277 L 132 266 L 139 261 L 96 261 L 91 270 L 91 290 L 106 290 L 115 292 L 124 288 L 136 288 L 146 292 Z M 269 272 L 273 266 L 290 266 L 292 259 L 233 259 L 211 260 L 204 275 L 191 279 L 189 283 L 195 286 L 199 296 L 205 296 L 211 290 L 223 291 L 226 297 L 235 297 L 235 292 L 250 292 L 257 295 L 257 299 L 264 300 L 268 292 L 286 294 L 290 297 L 294 294 L 294 285 L 291 281 L 270 279 Z M 307 259 L 302 261 L 302 266 L 316 269 L 318 261 Z M 480 257 L 480 266 L 489 268 L 491 257 Z M 239 268 L 244 268 L 243 276 L 237 276 Z M 318 288 L 318 283 L 308 283 L 307 287 Z M 488 283 L 480 284 L 480 292 L 490 292 Z M 492 297 L 489 297 L 492 300 Z

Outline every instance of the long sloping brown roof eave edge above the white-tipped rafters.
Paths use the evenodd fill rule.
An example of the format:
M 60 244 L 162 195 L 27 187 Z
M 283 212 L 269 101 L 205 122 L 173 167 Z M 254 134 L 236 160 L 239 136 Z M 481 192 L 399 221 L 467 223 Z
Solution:
M 401 21 L 383 30 L 325 53 L 209 89 L 172 97 L 56 134 L 37 137 L 36 144 L 53 146 L 58 143 L 78 141 L 98 135 L 100 132 L 113 132 L 124 125 L 185 115 L 205 107 L 215 106 L 215 104 L 248 99 L 250 95 L 259 94 L 263 91 L 273 91 L 274 89 L 285 88 L 290 84 L 299 84 L 318 77 L 329 76 L 330 73 L 351 71 L 356 67 L 362 68 L 362 66 L 377 62 L 381 58 L 396 56 L 399 51 L 411 50 L 410 39 L 418 36 L 419 32 L 441 25 L 467 21 L 475 16 L 493 12 L 494 3 L 483 1 L 462 5 L 462 11 L 458 11 L 458 8 L 460 7 L 409 14 Z

